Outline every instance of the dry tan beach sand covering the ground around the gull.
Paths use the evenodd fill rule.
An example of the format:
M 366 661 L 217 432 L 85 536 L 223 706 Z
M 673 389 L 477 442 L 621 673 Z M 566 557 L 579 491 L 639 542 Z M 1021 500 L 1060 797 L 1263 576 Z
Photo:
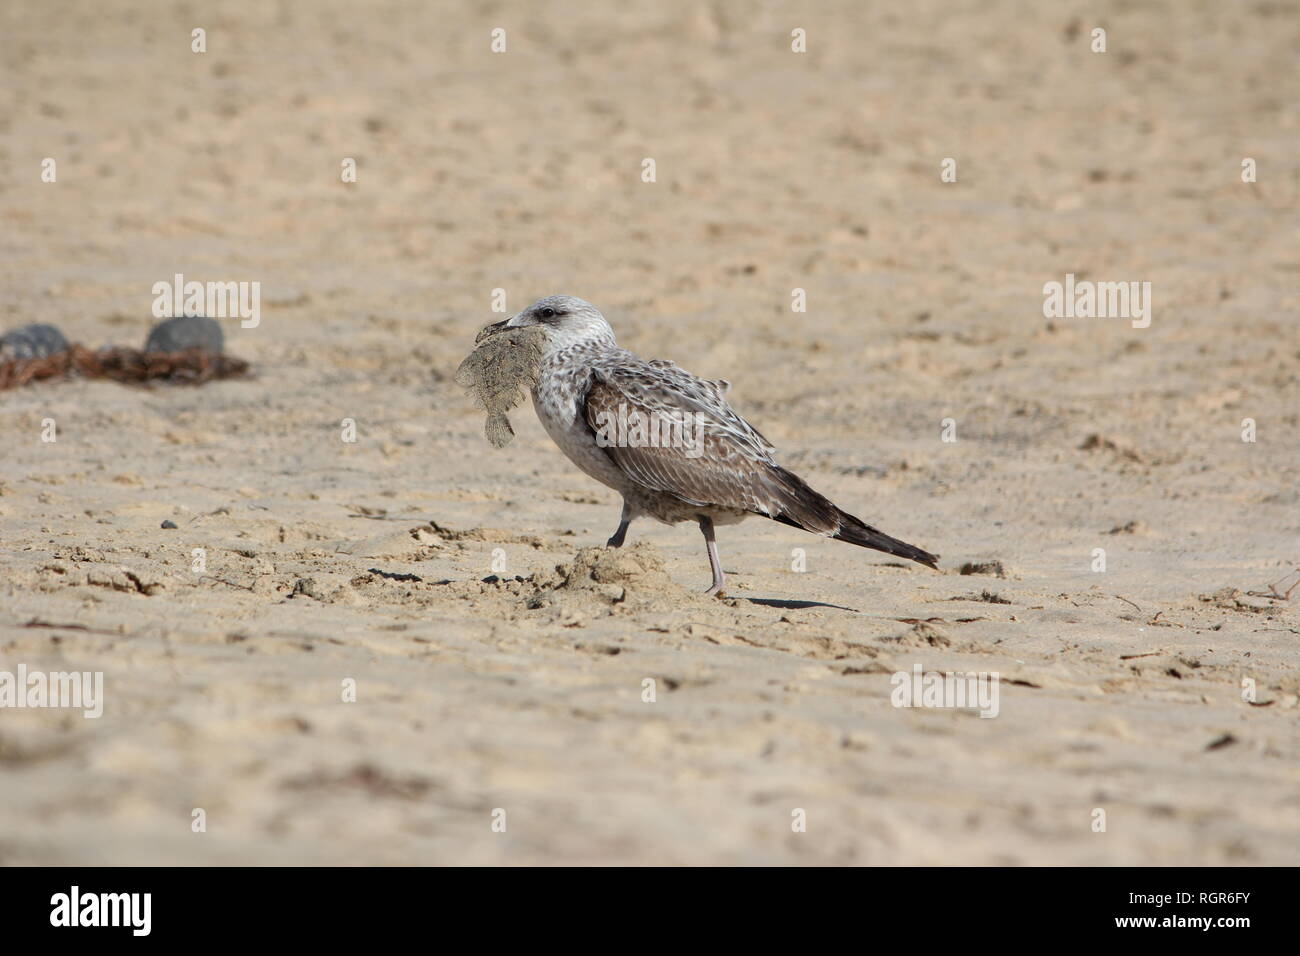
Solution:
M 0 862 L 1296 862 L 1300 592 L 1249 592 L 1300 566 L 1300 8 L 592 7 L 0 10 L 0 328 L 263 284 L 251 380 L 0 394 L 0 669 L 107 695 L 0 710 Z M 1066 273 L 1150 326 L 1048 323 Z M 616 496 L 452 381 L 498 287 L 732 380 L 945 571 L 584 550 Z M 918 662 L 1000 715 L 890 706 Z

